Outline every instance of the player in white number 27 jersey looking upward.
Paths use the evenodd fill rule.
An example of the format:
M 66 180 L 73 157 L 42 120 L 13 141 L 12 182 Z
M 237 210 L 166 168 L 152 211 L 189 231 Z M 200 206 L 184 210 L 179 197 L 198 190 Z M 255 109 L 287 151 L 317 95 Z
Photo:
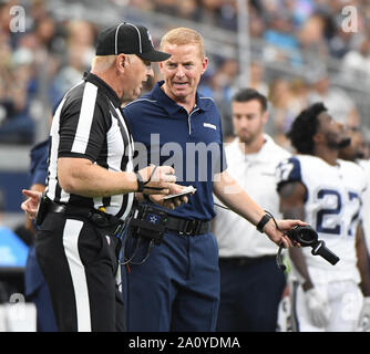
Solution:
M 278 166 L 278 191 L 284 217 L 301 218 L 340 260 L 331 266 L 310 248 L 289 252 L 290 294 L 296 331 L 357 331 L 370 279 L 362 227 L 363 170 L 338 159 L 350 143 L 343 126 L 322 103 L 302 111 L 288 133 L 298 155 Z

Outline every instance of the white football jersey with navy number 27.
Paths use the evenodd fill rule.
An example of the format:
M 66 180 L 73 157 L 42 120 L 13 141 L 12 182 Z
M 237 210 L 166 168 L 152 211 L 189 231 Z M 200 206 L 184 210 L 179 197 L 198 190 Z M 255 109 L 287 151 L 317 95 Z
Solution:
M 340 260 L 331 266 L 311 248 L 301 248 L 315 283 L 351 279 L 360 282 L 356 256 L 356 229 L 360 218 L 361 195 L 366 189 L 363 169 L 351 162 L 336 166 L 310 155 L 296 155 L 277 168 L 278 188 L 287 181 L 306 186 L 305 221 Z

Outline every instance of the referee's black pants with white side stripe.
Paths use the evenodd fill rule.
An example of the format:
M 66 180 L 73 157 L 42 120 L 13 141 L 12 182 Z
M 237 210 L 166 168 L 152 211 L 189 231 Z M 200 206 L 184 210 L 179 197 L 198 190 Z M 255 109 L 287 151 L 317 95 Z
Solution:
M 121 241 L 86 218 L 49 212 L 35 251 L 60 331 L 123 331 L 115 274 Z

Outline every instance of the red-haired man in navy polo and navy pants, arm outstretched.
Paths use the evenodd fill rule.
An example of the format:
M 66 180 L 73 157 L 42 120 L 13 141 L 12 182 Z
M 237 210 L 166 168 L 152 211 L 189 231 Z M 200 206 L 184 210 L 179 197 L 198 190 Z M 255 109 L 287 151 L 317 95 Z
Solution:
M 215 331 L 219 302 L 217 241 L 209 229 L 216 214 L 213 194 L 277 244 L 292 247 L 281 230 L 301 221 L 275 225 L 229 176 L 218 110 L 198 92 L 208 65 L 202 35 L 187 28 L 173 29 L 162 38 L 161 48 L 172 54 L 160 63 L 164 80 L 127 104 L 123 114 L 135 143 L 147 147 L 147 160 L 158 158 L 162 166 L 169 160 L 176 166 L 177 181 L 192 185 L 196 192 L 188 204 L 168 211 L 163 241 L 151 249 L 145 262 L 130 262 L 122 271 L 126 325 L 130 332 L 209 332 Z M 157 140 L 152 139 L 154 134 Z M 148 254 L 150 246 L 141 242 L 137 254 Z

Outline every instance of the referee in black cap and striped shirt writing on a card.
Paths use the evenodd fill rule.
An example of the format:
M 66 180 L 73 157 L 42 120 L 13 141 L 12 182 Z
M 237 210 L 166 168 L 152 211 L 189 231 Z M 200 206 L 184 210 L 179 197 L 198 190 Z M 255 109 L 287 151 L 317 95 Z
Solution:
M 92 71 L 54 114 L 35 251 L 60 331 L 124 330 L 114 232 L 134 191 L 168 194 L 176 185 L 168 166 L 133 171 L 133 142 L 120 106 L 138 96 L 153 75 L 151 62 L 168 58 L 154 50 L 144 27 L 103 30 Z

